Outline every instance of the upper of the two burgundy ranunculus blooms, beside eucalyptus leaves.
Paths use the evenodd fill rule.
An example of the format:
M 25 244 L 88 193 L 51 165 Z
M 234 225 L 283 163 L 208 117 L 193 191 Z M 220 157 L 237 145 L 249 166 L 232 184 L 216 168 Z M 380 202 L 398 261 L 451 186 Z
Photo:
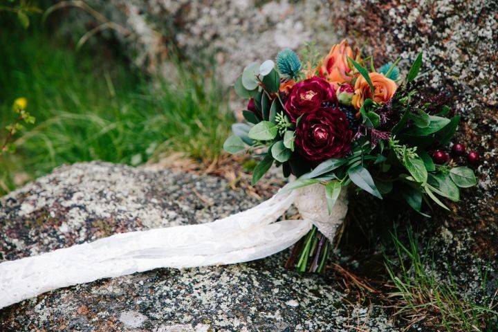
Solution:
M 313 113 L 322 107 L 322 102 L 337 104 L 335 89 L 322 77 L 311 77 L 293 86 L 285 108 L 288 116 L 295 122 L 304 113 Z

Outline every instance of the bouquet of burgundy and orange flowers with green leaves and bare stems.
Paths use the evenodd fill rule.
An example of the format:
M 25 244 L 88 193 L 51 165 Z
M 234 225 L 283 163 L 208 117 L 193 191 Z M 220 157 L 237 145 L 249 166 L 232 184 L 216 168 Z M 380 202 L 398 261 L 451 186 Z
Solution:
M 459 188 L 477 183 L 472 169 L 457 165 L 465 147 L 454 144 L 453 158 L 448 153 L 460 116 L 450 117 L 444 93 L 431 94 L 421 77 L 416 80 L 422 53 L 404 79 L 400 59 L 377 68 L 345 40 L 322 59 L 312 45 L 304 53 L 304 61 L 284 49 L 275 62 L 254 62 L 234 84 L 248 100 L 242 111 L 247 123 L 233 124 L 223 147 L 250 151 L 259 160 L 252 184 L 272 165 L 282 166 L 285 177 L 297 178 L 282 190 L 322 187 L 308 199 L 323 200 L 329 214 L 339 213 L 340 201 L 347 204 L 350 187 L 378 199 L 403 199 L 428 216 L 423 203 L 449 210 L 441 198 L 458 201 Z M 479 161 L 475 151 L 466 156 Z M 286 266 L 320 273 L 334 234 L 313 226 Z

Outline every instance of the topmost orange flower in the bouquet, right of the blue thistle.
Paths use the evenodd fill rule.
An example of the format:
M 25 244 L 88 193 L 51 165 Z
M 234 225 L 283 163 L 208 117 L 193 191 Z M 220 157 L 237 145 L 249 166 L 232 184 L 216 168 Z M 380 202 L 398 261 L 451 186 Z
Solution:
M 340 44 L 332 46 L 329 54 L 324 57 L 322 65 L 318 68 L 320 76 L 331 82 L 334 86 L 344 82 L 351 82 L 351 71 L 348 64 L 348 57 L 358 59 L 360 51 L 358 48 L 351 48 L 346 39 Z

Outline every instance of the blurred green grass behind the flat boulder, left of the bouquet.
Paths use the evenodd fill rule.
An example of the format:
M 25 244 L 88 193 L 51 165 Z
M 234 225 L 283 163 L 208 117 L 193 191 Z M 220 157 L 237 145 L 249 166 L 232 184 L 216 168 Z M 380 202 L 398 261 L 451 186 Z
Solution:
M 64 163 L 139 165 L 160 151 L 203 162 L 219 155 L 232 115 L 203 68 L 179 64 L 174 80 L 151 80 L 104 44 L 76 53 L 64 40 L 15 27 L 0 30 L 0 124 L 15 117 L 12 102 L 21 96 L 37 121 L 17 134 L 14 155 L 0 156 L 0 194 Z

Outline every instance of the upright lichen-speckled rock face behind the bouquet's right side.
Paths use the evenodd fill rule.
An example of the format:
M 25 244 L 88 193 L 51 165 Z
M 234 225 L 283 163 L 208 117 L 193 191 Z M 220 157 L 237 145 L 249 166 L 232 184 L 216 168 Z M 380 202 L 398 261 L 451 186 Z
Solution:
M 344 10 L 338 29 L 365 39 L 377 63 L 397 56 L 412 62 L 423 51 L 425 84 L 447 93 L 452 112 L 461 115 L 453 142 L 483 157 L 471 166 L 477 187 L 463 190 L 458 203 L 445 200 L 452 213 L 436 209 L 432 219 L 415 224 L 438 252 L 439 268 L 458 271 L 461 289 L 467 288 L 479 279 L 477 266 L 498 270 L 498 2 L 358 0 L 344 2 Z M 454 161 L 468 165 L 464 158 Z M 490 275 L 496 290 L 496 272 Z

